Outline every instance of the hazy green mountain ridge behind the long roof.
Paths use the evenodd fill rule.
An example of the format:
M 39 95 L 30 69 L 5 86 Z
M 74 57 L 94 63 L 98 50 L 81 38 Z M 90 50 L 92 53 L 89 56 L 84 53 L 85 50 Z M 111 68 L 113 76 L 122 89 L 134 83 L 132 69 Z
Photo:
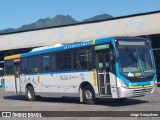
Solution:
M 66 15 L 66 16 L 56 15 L 53 18 L 39 19 L 36 22 L 30 23 L 27 25 L 22 25 L 21 27 L 17 29 L 7 28 L 4 30 L 0 30 L 0 34 L 32 30 L 32 29 L 47 28 L 47 27 L 54 27 L 54 26 L 60 26 L 60 25 L 83 23 L 83 22 L 89 22 L 89 21 L 105 20 L 105 19 L 110 19 L 110 18 L 113 18 L 113 17 L 109 14 L 101 14 L 101 15 L 97 15 L 97 16 L 82 20 L 82 21 L 77 21 L 74 18 L 72 18 L 70 15 Z

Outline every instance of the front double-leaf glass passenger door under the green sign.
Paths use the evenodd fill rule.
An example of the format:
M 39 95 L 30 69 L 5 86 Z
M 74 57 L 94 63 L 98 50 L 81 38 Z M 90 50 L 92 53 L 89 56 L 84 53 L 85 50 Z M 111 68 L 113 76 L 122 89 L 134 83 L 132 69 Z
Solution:
M 110 88 L 110 50 L 96 51 L 96 66 L 98 73 L 98 89 L 100 96 L 111 96 Z

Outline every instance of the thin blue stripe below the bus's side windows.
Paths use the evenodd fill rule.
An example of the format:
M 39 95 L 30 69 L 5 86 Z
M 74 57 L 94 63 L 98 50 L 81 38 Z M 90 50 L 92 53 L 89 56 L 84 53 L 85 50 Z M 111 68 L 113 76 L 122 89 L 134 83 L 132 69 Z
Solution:
M 76 73 L 76 72 L 90 72 L 92 70 L 71 70 L 71 71 L 58 71 L 58 72 L 43 72 L 43 73 L 31 73 L 31 74 L 24 74 L 25 76 L 31 75 L 46 75 L 46 74 L 65 74 L 65 73 Z

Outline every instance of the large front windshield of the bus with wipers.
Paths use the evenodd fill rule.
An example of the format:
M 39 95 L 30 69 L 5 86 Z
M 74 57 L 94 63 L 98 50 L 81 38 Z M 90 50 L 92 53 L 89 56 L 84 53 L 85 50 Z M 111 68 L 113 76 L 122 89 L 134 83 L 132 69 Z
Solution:
M 118 46 L 120 73 L 127 77 L 152 76 L 155 69 L 149 43 L 145 41 L 132 43 L 127 42 Z

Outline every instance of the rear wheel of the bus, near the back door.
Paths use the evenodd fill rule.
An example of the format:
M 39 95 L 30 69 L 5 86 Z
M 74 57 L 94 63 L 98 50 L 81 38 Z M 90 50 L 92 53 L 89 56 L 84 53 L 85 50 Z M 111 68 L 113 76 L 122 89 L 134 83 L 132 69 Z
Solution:
M 26 98 L 28 101 L 35 101 L 35 93 L 32 86 L 28 86 L 26 90 Z

